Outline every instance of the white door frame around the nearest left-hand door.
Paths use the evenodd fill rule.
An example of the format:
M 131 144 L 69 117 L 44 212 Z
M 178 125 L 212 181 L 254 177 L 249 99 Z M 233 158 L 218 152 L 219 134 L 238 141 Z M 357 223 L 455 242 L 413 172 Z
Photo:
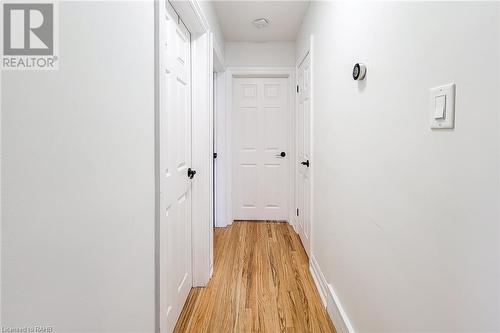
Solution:
M 155 326 L 160 330 L 160 196 L 159 196 L 159 22 L 162 1 L 155 1 Z M 206 286 L 213 266 L 212 175 L 213 175 L 213 33 L 200 5 L 195 0 L 171 1 L 175 11 L 191 32 L 192 63 L 192 168 L 197 171 L 192 183 L 192 286 Z M 220 55 L 220 53 L 218 53 Z M 222 57 L 219 61 L 223 63 Z M 207 200 L 207 198 L 209 198 Z

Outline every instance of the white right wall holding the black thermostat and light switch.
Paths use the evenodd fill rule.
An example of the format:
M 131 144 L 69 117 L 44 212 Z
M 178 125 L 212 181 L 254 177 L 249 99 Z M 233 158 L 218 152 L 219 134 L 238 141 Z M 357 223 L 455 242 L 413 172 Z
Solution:
M 357 332 L 500 330 L 498 7 L 311 3 L 312 251 Z M 431 131 L 448 82 L 456 128 Z

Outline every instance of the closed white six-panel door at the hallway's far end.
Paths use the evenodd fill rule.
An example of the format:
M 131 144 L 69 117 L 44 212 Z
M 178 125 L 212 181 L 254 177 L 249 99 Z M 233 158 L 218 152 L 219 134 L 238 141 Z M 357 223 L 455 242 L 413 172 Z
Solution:
M 233 80 L 234 219 L 287 220 L 288 119 L 288 79 Z

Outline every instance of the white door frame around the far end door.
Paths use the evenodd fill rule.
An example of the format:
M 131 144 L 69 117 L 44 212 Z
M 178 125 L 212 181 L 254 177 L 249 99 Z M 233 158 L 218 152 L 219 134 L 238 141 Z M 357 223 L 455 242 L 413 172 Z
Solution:
M 226 170 L 228 171 L 228 179 L 226 183 L 227 197 L 227 212 L 226 216 L 230 217 L 228 224 L 234 220 L 233 216 L 233 202 L 232 198 L 232 97 L 233 97 L 233 79 L 238 77 L 281 77 L 288 80 L 289 101 L 288 106 L 290 109 L 289 117 L 289 146 L 290 156 L 296 155 L 295 147 L 295 68 L 294 67 L 228 67 L 226 69 Z M 288 196 L 288 222 L 292 225 L 295 223 L 295 168 L 289 168 L 289 196 Z

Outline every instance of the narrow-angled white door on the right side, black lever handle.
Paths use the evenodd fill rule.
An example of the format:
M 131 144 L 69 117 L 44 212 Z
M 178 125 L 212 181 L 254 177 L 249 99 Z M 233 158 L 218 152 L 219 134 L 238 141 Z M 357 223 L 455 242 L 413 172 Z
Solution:
M 309 255 L 311 242 L 311 71 L 309 54 L 297 69 L 297 229 Z

